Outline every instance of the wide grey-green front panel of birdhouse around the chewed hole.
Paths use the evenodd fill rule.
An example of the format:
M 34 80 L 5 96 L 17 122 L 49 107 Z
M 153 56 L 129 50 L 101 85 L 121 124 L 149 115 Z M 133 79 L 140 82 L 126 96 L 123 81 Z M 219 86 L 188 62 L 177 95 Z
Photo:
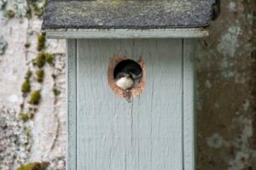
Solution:
M 77 169 L 183 169 L 182 40 L 78 40 Z M 147 84 L 128 103 L 108 87 L 108 59 L 146 62 Z

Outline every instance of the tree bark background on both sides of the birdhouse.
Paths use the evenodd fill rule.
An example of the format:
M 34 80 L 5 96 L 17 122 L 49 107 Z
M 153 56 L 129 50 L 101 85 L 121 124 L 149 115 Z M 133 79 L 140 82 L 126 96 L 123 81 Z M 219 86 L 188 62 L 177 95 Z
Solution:
M 44 0 L 0 0 L 1 170 L 29 162 L 49 162 L 49 169 L 65 169 L 65 42 L 44 44 L 43 8 Z M 255 0 L 224 0 L 211 36 L 199 40 L 200 170 L 256 169 L 255 15 Z M 32 76 L 27 77 L 30 71 Z M 31 96 L 37 90 L 38 104 L 31 99 L 38 99 Z

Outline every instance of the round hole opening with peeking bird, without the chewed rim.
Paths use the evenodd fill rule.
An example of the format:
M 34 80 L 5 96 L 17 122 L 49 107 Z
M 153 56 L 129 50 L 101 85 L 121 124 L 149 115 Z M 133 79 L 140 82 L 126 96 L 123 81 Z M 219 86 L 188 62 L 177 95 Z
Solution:
M 113 72 L 116 85 L 124 91 L 136 88 L 143 77 L 143 69 L 131 59 L 121 61 Z

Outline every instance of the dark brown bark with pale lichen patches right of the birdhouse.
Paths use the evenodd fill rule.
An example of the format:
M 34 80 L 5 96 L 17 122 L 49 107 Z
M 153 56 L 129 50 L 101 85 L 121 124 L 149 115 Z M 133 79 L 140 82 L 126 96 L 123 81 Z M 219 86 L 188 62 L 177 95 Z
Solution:
M 255 4 L 222 1 L 211 36 L 200 41 L 198 169 L 256 169 Z

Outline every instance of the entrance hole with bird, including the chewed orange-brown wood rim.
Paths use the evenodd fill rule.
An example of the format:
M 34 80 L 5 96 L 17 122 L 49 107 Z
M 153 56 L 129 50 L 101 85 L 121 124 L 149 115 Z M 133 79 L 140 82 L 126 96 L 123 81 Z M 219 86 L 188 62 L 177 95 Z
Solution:
M 115 94 L 125 99 L 142 94 L 145 77 L 146 69 L 142 57 L 135 61 L 119 54 L 110 59 L 108 82 Z

